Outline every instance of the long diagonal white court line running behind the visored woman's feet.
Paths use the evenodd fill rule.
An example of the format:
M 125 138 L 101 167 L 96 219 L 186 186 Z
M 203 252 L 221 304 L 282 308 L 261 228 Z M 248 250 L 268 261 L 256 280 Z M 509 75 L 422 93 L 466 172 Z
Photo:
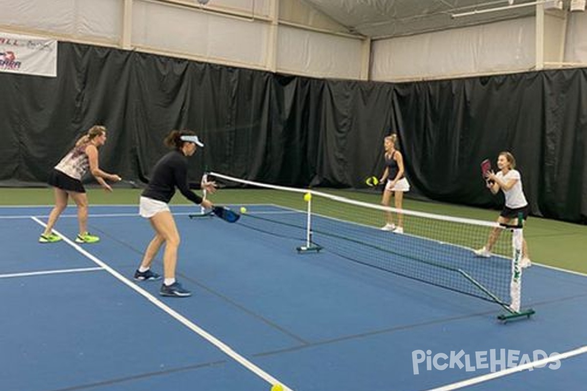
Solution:
M 32 216 L 29 216 L 29 217 L 31 219 L 35 220 L 35 222 L 39 223 L 39 225 L 42 225 L 43 227 L 46 227 L 46 224 L 43 223 L 38 218 L 32 217 Z M 218 349 L 220 349 L 226 355 L 228 355 L 232 359 L 234 359 L 234 361 L 237 361 L 239 364 L 241 364 L 242 366 L 244 366 L 245 368 L 247 368 L 251 372 L 255 373 L 255 375 L 259 376 L 259 378 L 265 380 L 269 384 L 277 384 L 277 383 L 281 384 L 283 386 L 283 388 L 284 388 L 284 391 L 294 391 L 291 388 L 289 388 L 286 385 L 284 385 L 284 383 L 279 382 L 279 380 L 277 380 L 273 376 L 269 375 L 269 373 L 265 372 L 264 370 L 262 370 L 261 368 L 259 368 L 254 363 L 248 361 L 246 358 L 244 358 L 243 356 L 239 355 L 230 346 L 228 346 L 228 345 L 224 344 L 224 342 L 220 341 L 220 339 L 216 338 L 214 335 L 210 334 L 209 332 L 205 331 L 203 328 L 201 328 L 198 325 L 194 324 L 192 321 L 190 321 L 189 319 L 185 318 L 183 315 L 181 315 L 176 310 L 173 310 L 173 308 L 169 307 L 163 301 L 159 300 L 157 297 L 153 296 L 152 294 L 150 294 L 149 292 L 147 292 L 143 288 L 139 287 L 139 285 L 134 284 L 133 281 L 130 281 L 128 278 L 124 277 L 118 271 L 114 270 L 114 268 L 112 268 L 108 264 L 104 263 L 104 261 L 102 261 L 99 258 L 97 258 L 97 257 L 93 256 L 92 254 L 90 254 L 88 251 L 86 251 L 85 249 L 83 249 L 82 246 L 79 246 L 79 244 L 77 244 L 77 243 L 73 242 L 72 240 L 68 239 L 67 237 L 63 236 L 60 232 L 58 232 L 55 229 L 53 230 L 53 232 L 55 232 L 60 237 L 62 237 L 63 238 L 63 241 L 65 243 L 68 243 L 74 249 L 76 249 L 77 251 L 79 251 L 80 253 L 82 253 L 83 256 L 85 256 L 88 259 L 92 260 L 94 263 L 96 263 L 97 265 L 99 265 L 100 267 L 102 267 L 108 273 L 112 274 L 112 276 L 114 276 L 115 278 L 117 278 L 123 284 L 127 285 L 128 287 L 130 287 L 131 289 L 133 289 L 134 291 L 136 291 L 137 293 L 139 293 L 141 296 L 143 296 L 144 298 L 146 298 L 147 300 L 149 300 L 152 304 L 156 305 L 161 310 L 163 310 L 164 312 L 166 312 L 168 315 L 170 315 L 171 317 L 175 318 L 178 322 L 180 322 L 181 324 L 183 324 L 185 327 L 187 327 L 191 331 L 195 332 L 196 334 L 200 335 L 202 338 L 206 339 L 212 345 L 216 346 Z M 177 300 L 181 300 L 181 299 L 177 299 Z

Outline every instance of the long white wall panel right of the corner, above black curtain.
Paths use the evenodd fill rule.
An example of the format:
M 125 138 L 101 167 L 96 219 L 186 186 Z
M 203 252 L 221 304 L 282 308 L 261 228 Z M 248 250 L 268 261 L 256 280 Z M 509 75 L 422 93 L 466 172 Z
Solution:
M 535 50 L 534 18 L 378 40 L 371 76 L 393 81 L 514 72 L 534 66 Z

